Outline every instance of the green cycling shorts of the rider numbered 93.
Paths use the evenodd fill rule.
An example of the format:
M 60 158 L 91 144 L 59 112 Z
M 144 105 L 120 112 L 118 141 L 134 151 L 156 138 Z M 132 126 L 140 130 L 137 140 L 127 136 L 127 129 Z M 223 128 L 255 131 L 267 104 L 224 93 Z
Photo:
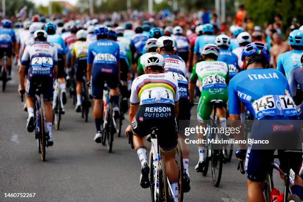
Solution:
M 216 91 L 218 91 L 218 93 L 215 93 Z M 203 123 L 203 120 L 209 120 L 212 111 L 210 102 L 212 100 L 222 100 L 226 103 L 228 100 L 227 89 L 209 89 L 201 92 L 197 108 L 197 118 L 199 122 Z

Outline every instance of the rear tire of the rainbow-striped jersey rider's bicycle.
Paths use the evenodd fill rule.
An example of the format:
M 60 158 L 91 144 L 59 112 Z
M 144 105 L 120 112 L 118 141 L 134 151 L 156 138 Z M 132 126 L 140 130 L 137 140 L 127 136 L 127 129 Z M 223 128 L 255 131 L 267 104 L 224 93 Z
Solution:
M 158 183 L 159 183 L 159 194 L 158 202 L 170 202 L 169 187 L 166 175 L 166 167 L 163 159 L 158 162 Z

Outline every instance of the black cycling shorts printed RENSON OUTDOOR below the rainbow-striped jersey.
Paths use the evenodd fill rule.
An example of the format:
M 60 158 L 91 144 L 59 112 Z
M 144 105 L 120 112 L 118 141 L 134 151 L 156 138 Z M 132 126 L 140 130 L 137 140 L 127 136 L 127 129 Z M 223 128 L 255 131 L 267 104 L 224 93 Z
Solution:
M 153 127 L 159 127 L 157 141 L 161 152 L 172 152 L 177 147 L 178 129 L 175 109 L 172 104 L 140 105 L 136 116 L 132 120 L 131 127 L 140 137 L 149 135 Z

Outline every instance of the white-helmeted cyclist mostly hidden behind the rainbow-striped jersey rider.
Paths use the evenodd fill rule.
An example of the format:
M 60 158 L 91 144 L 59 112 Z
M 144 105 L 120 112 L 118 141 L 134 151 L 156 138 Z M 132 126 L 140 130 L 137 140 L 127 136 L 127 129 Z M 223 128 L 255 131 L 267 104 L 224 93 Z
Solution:
M 165 60 L 165 74 L 169 74 L 178 81 L 178 91 L 179 91 L 179 115 L 177 116 L 177 123 L 179 121 L 187 123 L 179 123 L 179 139 L 183 155 L 183 166 L 184 166 L 184 179 L 185 185 L 184 192 L 190 191 L 190 178 L 189 178 L 189 145 L 185 144 L 184 128 L 189 126 L 189 120 L 191 119 L 191 109 L 190 109 L 190 97 L 188 92 L 188 81 L 185 78 L 186 65 L 185 61 L 178 55 L 174 55 L 174 43 L 171 37 L 163 36 L 160 37 L 157 42 L 157 53 L 161 54 Z

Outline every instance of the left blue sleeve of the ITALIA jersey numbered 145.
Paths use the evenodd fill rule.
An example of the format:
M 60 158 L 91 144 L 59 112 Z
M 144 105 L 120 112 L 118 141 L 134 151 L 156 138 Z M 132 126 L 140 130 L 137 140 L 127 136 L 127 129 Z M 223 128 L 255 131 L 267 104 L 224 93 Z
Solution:
M 228 86 L 229 114 L 240 114 L 241 103 L 236 91 L 236 79 L 232 79 Z

